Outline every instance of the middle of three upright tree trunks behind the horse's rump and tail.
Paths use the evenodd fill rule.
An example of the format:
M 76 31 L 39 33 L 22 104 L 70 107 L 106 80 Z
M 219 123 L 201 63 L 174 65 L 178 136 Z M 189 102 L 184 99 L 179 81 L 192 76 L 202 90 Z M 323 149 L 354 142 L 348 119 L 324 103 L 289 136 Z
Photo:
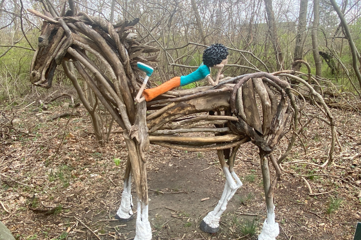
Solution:
M 307 5 L 308 5 L 308 0 L 301 0 L 300 13 L 299 13 L 299 17 L 298 17 L 294 61 L 303 59 L 304 39 L 306 36 Z M 296 71 L 300 71 L 301 63 L 294 65 L 293 68 Z

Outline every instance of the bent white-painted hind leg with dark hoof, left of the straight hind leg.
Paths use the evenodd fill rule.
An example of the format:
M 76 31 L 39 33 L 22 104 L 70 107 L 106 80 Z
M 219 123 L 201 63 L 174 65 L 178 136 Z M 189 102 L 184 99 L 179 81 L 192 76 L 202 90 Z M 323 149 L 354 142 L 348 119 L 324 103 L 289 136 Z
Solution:
M 237 150 L 238 148 L 237 149 L 234 148 L 233 152 Z M 234 158 L 235 154 L 233 154 L 233 152 L 231 156 Z M 224 184 L 222 197 L 218 201 L 216 207 L 214 208 L 213 211 L 210 211 L 207 214 L 207 216 L 202 220 L 202 222 L 199 225 L 200 230 L 208 233 L 215 233 L 219 231 L 220 215 L 227 208 L 228 201 L 231 200 L 233 195 L 236 193 L 237 189 L 243 185 L 241 180 L 238 178 L 238 176 L 233 170 L 234 159 L 229 161 L 230 168 L 228 168 L 225 165 L 223 150 L 218 150 L 217 154 L 225 176 L 225 184 Z

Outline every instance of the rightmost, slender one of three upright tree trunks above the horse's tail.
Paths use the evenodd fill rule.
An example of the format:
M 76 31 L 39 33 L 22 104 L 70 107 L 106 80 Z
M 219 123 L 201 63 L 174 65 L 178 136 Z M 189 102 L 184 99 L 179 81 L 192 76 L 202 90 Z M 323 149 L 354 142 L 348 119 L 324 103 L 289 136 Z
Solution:
M 313 22 L 312 22 L 312 31 L 311 31 L 311 38 L 312 38 L 312 52 L 313 52 L 313 59 L 314 65 L 316 67 L 316 78 L 315 80 L 318 81 L 321 78 L 321 59 L 319 54 L 319 42 L 317 40 L 317 29 L 319 27 L 320 22 L 320 0 L 313 0 Z M 314 86 L 314 89 L 318 91 L 318 86 Z

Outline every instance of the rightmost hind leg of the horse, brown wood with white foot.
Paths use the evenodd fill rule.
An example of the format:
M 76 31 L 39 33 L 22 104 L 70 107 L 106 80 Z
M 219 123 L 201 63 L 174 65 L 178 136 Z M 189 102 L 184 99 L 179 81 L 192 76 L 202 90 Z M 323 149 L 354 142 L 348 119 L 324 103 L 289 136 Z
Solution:
M 260 152 L 260 158 L 264 194 L 266 197 L 267 219 L 264 220 L 262 231 L 258 235 L 258 240 L 276 240 L 276 237 L 280 233 L 278 223 L 275 221 L 275 205 L 273 198 L 273 190 L 276 184 L 271 184 L 270 182 L 268 159 L 262 151 Z M 274 181 L 277 181 L 277 178 Z

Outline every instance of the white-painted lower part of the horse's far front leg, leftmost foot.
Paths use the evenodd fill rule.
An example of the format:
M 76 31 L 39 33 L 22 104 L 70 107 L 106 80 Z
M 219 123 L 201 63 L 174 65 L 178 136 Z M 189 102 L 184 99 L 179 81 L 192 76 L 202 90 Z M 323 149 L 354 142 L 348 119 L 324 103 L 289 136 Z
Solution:
M 131 174 L 128 179 L 124 180 L 124 189 L 122 193 L 122 200 L 120 201 L 120 207 L 117 211 L 116 219 L 127 222 L 131 220 L 133 211 L 133 201 L 131 197 Z

